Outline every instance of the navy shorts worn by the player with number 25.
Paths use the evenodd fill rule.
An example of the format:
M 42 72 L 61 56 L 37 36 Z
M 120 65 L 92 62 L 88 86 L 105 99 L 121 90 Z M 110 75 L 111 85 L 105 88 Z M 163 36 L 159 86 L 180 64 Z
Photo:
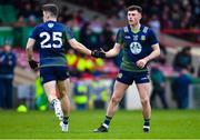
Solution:
M 40 69 L 42 84 L 49 81 L 62 81 L 68 79 L 69 70 L 67 67 L 43 67 Z

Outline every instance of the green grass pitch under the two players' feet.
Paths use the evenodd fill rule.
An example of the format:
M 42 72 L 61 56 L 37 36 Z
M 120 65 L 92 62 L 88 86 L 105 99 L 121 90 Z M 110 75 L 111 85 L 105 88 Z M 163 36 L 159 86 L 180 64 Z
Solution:
M 142 132 L 141 111 L 118 111 L 108 133 L 93 133 L 104 112 L 72 111 L 69 132 L 62 133 L 53 111 L 0 110 L 0 139 L 200 139 L 199 110 L 153 110 L 150 133 Z

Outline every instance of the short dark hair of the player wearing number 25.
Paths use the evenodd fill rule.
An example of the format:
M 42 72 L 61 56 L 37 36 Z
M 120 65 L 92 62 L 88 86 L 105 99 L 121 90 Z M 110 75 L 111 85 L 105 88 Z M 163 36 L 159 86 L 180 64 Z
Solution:
M 42 6 L 42 11 L 49 11 L 52 16 L 58 17 L 59 8 L 54 3 L 47 3 Z

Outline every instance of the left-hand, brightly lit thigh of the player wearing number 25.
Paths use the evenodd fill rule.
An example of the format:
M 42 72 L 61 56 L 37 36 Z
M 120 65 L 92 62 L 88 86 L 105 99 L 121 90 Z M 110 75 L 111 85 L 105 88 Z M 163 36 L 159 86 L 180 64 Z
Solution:
M 43 83 L 43 89 L 44 89 L 47 96 L 56 94 L 56 92 L 57 92 L 56 84 L 57 84 L 56 80 Z

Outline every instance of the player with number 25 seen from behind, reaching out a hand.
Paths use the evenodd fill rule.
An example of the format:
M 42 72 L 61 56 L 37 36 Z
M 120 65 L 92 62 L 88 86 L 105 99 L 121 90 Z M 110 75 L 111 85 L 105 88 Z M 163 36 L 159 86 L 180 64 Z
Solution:
M 49 102 L 60 120 L 63 132 L 68 131 L 70 114 L 69 90 L 70 80 L 66 60 L 69 44 L 86 54 L 92 54 L 82 43 L 78 42 L 69 27 L 57 22 L 58 6 L 48 3 L 42 6 L 43 23 L 38 24 L 28 42 L 27 57 L 31 69 L 40 68 L 40 77 Z M 40 62 L 33 59 L 33 47 L 39 50 Z M 60 96 L 57 97 L 57 88 Z

